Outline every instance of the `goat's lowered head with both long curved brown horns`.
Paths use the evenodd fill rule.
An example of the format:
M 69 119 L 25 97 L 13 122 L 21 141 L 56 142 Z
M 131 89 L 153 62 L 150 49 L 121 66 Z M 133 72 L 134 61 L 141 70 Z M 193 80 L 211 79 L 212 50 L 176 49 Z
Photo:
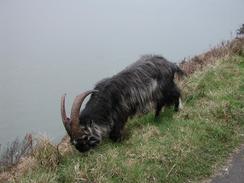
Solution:
M 77 150 L 80 152 L 88 151 L 90 148 L 96 146 L 100 139 L 94 136 L 94 127 L 92 121 L 85 121 L 84 124 L 89 124 L 85 126 L 80 125 L 79 114 L 80 108 L 84 99 L 91 93 L 97 92 L 96 90 L 87 91 L 76 96 L 72 108 L 70 118 L 66 116 L 65 111 L 65 96 L 61 98 L 61 117 L 64 127 L 70 136 L 71 144 L 73 144 Z

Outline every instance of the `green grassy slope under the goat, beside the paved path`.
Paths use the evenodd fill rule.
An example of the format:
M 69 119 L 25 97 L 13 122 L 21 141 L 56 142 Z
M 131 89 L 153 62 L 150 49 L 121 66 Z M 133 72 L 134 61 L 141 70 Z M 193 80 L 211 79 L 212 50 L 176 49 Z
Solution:
M 128 122 L 122 143 L 86 154 L 35 154 L 37 168 L 20 182 L 187 182 L 213 173 L 240 142 L 244 124 L 244 57 L 217 62 L 181 83 L 184 108 Z M 53 148 L 53 147 L 50 147 Z M 48 148 L 47 148 L 48 149 Z M 51 161 L 50 161 L 51 160 Z M 57 163 L 58 162 L 58 163 Z

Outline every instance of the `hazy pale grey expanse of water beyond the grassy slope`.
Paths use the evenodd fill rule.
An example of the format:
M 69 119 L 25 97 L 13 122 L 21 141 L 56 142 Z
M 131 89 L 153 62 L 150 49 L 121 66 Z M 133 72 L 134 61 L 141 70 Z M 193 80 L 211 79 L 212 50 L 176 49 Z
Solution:
M 66 132 L 73 98 L 143 54 L 173 62 L 233 38 L 243 0 L 0 0 L 0 144 Z

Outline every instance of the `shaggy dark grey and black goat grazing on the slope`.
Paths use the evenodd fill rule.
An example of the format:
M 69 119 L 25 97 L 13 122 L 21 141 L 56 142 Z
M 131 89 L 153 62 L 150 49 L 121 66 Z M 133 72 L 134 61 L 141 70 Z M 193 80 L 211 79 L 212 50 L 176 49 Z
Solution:
M 95 147 L 102 137 L 121 140 L 129 117 L 141 113 L 148 106 L 156 110 L 174 105 L 178 110 L 180 90 L 174 83 L 175 73 L 183 71 L 160 56 L 143 56 L 111 78 L 98 82 L 94 90 L 78 95 L 71 109 L 71 119 L 65 113 L 65 95 L 61 99 L 61 115 L 71 143 L 84 152 Z M 80 108 L 91 94 L 85 108 Z

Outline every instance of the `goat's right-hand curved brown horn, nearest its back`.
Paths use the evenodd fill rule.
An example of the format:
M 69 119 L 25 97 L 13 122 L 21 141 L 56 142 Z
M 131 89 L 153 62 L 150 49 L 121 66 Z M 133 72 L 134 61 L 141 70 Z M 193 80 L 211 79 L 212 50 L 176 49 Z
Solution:
M 70 124 L 70 130 L 72 137 L 78 136 L 80 132 L 80 124 L 79 124 L 79 114 L 80 114 L 80 108 L 85 100 L 85 98 L 91 94 L 97 92 L 97 90 L 90 90 L 86 91 L 84 93 L 81 93 L 80 95 L 75 97 L 75 100 L 73 102 L 72 108 L 71 108 L 71 124 Z

